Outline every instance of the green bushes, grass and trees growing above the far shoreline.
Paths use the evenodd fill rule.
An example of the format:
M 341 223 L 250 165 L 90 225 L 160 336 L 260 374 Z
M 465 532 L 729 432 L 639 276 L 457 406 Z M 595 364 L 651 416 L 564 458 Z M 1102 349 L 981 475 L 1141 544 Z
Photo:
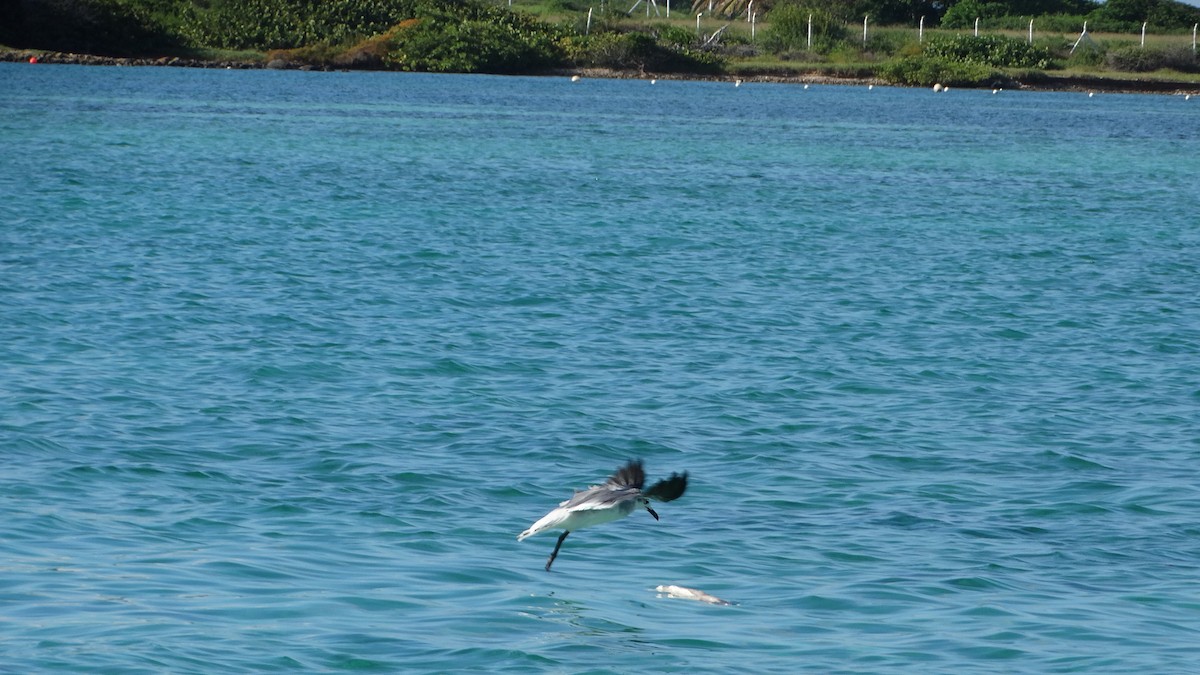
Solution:
M 644 5 L 630 12 L 631 2 L 0 2 L 0 43 L 108 56 L 242 54 L 314 67 L 491 73 L 594 67 L 877 77 L 906 85 L 991 85 L 1046 71 L 1190 80 L 1200 73 L 1192 47 L 1200 8 L 1174 0 L 754 0 L 754 24 L 746 22 L 750 0 L 714 0 L 712 10 L 709 0 L 690 7 L 677 1 L 670 19 L 666 0 L 649 13 Z M 1088 40 L 1076 44 L 1084 22 Z

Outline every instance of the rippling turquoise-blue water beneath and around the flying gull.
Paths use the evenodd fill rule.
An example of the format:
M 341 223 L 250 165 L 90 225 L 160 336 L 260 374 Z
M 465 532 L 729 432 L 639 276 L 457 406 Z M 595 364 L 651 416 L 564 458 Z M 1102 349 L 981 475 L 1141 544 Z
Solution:
M 1196 101 L 0 64 L 0 670 L 1200 662 Z

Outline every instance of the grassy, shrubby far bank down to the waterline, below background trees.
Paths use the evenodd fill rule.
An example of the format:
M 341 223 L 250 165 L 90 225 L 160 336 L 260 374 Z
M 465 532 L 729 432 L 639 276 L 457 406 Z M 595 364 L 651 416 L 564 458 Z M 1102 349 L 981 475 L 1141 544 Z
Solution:
M 724 5 L 734 16 L 696 12 L 691 5 L 676 5 L 667 16 L 665 1 L 647 16 L 644 6 L 629 13 L 632 2 L 628 0 L 617 6 L 584 0 L 516 0 L 512 5 L 476 0 L 76 0 L 46 4 L 55 10 L 37 16 L 5 17 L 10 29 L 0 38 L 13 44 L 7 60 L 25 60 L 24 54 L 37 50 L 43 60 L 67 62 L 588 71 L 913 86 L 1200 88 L 1193 36 L 1181 26 L 1174 32 L 1148 32 L 1145 42 L 1140 31 L 1088 32 L 1081 38 L 1081 22 L 1079 31 L 1036 29 L 1031 41 L 1027 30 L 1010 28 L 1027 19 L 1014 17 L 980 20 L 978 35 L 973 26 L 871 24 L 864 35 L 860 23 L 793 0 L 758 0 L 769 8 L 761 17 L 756 12 L 751 23 L 738 13 L 744 7 L 737 1 Z M 967 1 L 974 0 L 961 0 Z M 703 2 L 696 6 L 707 10 Z M 1033 20 L 1036 26 L 1040 22 L 1061 28 L 1076 18 Z M 947 19 L 953 23 L 950 13 Z

